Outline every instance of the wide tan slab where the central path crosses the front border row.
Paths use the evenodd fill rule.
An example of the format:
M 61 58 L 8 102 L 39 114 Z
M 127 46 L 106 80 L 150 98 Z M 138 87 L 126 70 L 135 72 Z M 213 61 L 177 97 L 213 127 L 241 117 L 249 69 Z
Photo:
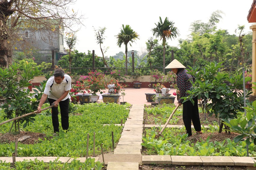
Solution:
M 103 162 L 102 155 L 99 157 L 99 161 Z M 108 162 L 142 162 L 142 155 L 141 154 L 104 154 L 104 161 L 105 165 Z

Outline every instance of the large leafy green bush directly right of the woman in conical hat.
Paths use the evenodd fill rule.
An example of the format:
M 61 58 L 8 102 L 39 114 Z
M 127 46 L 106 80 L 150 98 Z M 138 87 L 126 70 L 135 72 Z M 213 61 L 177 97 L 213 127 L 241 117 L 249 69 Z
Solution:
M 210 115 L 220 117 L 221 119 L 237 118 L 237 112 L 243 111 L 244 96 L 243 96 L 243 75 L 235 72 L 232 75 L 221 73 L 218 70 L 222 68 L 222 63 L 211 62 L 205 67 L 189 67 L 188 72 L 195 76 L 195 82 L 192 81 L 192 88 L 187 91 L 190 95 L 183 97 L 185 100 L 190 100 L 198 96 L 208 103 L 206 109 Z M 245 82 L 249 81 L 250 77 L 245 77 Z M 246 91 L 246 97 L 250 92 Z M 223 122 L 220 124 L 220 133 L 222 131 Z

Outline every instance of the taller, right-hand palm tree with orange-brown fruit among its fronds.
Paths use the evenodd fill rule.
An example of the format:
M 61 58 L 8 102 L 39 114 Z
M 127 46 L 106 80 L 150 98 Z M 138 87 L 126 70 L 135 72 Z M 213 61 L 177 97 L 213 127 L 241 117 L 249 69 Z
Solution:
M 174 22 L 169 21 L 168 18 L 166 17 L 164 19 L 164 22 L 162 22 L 161 16 L 159 16 L 160 22 L 157 24 L 155 23 L 156 27 L 153 28 L 151 31 L 153 32 L 153 35 L 158 37 L 161 37 L 163 39 L 163 72 L 165 73 L 165 43 L 166 39 L 168 40 L 169 38 L 176 38 L 177 35 L 180 35 L 179 30 L 177 27 L 174 27 Z

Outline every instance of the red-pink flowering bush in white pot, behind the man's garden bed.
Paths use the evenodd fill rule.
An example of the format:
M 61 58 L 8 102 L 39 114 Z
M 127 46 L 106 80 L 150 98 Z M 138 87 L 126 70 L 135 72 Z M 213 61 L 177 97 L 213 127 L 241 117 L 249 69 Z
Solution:
M 92 94 L 91 100 L 98 101 L 99 96 L 97 95 L 97 93 L 99 92 L 100 94 L 102 94 L 103 91 L 101 91 L 101 90 L 105 89 L 104 81 L 102 81 L 104 79 L 105 75 L 98 71 L 92 71 L 88 74 L 89 74 L 89 76 L 87 77 L 87 79 L 85 81 L 88 84 L 89 92 Z

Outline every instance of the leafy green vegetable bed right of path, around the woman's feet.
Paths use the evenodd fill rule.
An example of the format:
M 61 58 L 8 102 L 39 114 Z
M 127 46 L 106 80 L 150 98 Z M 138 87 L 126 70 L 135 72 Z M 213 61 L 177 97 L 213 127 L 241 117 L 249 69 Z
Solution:
M 146 119 L 148 122 L 155 121 L 158 124 L 165 124 L 174 107 L 174 105 L 158 105 L 156 107 L 149 106 L 148 108 L 145 108 L 144 115 L 145 118 L 148 118 Z M 182 110 L 178 110 L 173 115 L 169 124 L 184 125 L 183 121 L 182 123 L 179 123 L 180 120 L 177 120 L 179 116 L 181 116 L 180 120 L 182 121 Z M 142 154 L 180 156 L 247 156 L 245 141 L 238 143 L 233 142 L 234 137 L 239 134 L 229 134 L 225 132 L 218 133 L 218 118 L 216 120 L 203 120 L 204 119 L 201 118 L 203 134 L 195 134 L 195 130 L 192 129 L 192 134 L 194 133 L 194 135 L 191 137 L 187 136 L 185 127 L 181 129 L 166 128 L 159 139 L 155 139 L 155 136 L 159 133 L 161 128 L 158 129 L 153 127 L 151 129 L 147 129 L 146 137 L 143 138 Z M 210 122 L 211 120 L 213 121 Z M 208 125 L 208 128 L 205 128 L 206 125 Z M 248 149 L 249 156 L 255 157 L 255 145 L 252 143 L 248 146 Z

